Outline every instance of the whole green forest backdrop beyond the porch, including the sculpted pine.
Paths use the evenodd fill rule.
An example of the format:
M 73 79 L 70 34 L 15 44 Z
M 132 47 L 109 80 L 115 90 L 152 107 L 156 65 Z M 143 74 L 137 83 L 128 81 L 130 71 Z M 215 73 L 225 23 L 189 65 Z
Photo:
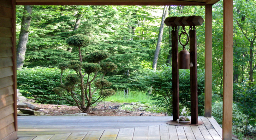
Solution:
M 17 6 L 16 12 L 20 92 L 43 104 L 64 100 L 83 112 L 115 93 L 143 92 L 171 115 L 172 29 L 163 20 L 205 19 L 204 6 Z M 256 1 L 234 0 L 233 14 L 233 133 L 255 138 Z M 222 125 L 222 0 L 213 5 L 212 28 L 212 114 Z M 198 115 L 203 116 L 204 23 L 196 31 Z M 189 79 L 189 70 L 179 71 L 181 109 L 190 108 Z

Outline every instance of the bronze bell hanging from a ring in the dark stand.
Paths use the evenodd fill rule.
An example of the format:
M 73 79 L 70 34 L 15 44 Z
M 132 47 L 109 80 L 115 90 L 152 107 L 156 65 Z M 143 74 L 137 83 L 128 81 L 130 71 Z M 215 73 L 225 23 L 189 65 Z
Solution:
M 190 69 L 190 54 L 189 51 L 183 49 L 179 52 L 178 68 L 179 69 Z

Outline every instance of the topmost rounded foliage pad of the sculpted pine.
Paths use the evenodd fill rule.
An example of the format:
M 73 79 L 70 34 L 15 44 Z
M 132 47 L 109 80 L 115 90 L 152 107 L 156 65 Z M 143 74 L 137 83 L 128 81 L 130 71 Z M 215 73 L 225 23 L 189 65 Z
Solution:
M 67 44 L 69 44 L 71 46 L 81 47 L 84 45 L 88 45 L 90 42 L 90 39 L 86 35 L 77 34 L 77 35 L 73 35 L 73 36 L 70 36 L 69 38 L 67 38 L 66 42 L 67 42 Z

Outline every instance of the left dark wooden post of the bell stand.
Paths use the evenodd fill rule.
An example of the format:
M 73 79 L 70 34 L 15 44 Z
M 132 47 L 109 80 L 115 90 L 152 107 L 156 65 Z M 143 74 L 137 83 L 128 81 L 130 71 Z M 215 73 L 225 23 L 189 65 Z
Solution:
M 173 121 L 179 119 L 179 69 L 178 30 L 172 27 L 172 114 Z

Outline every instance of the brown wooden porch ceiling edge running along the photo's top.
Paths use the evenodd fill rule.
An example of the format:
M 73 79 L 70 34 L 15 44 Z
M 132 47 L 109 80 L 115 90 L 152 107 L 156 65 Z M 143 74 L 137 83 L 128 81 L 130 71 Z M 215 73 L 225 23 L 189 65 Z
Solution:
M 16 0 L 17 5 L 213 5 L 220 0 Z

